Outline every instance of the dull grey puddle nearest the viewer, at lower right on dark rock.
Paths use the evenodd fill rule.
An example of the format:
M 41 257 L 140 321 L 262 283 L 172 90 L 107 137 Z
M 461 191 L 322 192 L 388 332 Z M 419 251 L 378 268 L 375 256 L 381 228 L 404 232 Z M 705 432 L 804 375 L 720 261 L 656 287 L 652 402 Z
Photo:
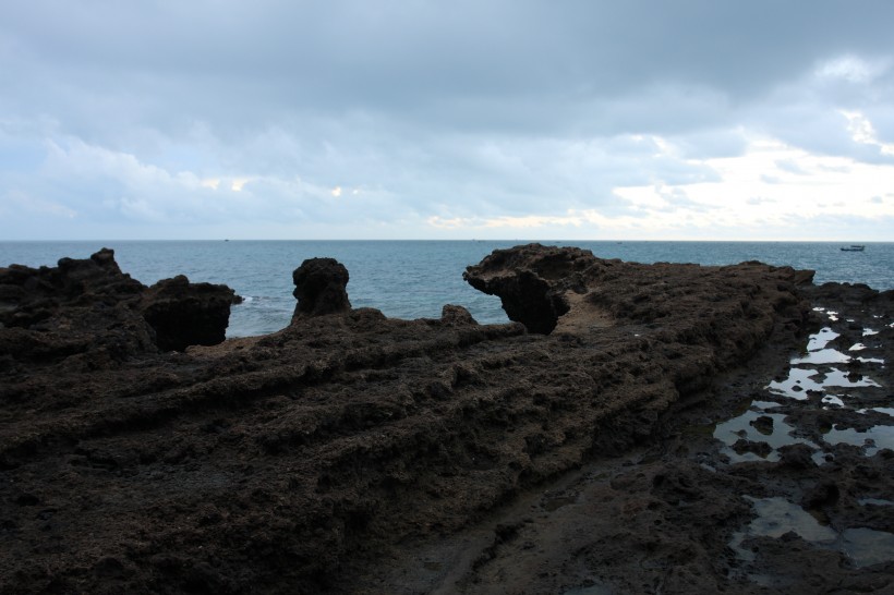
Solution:
M 733 534 L 729 547 L 740 559 L 753 561 L 754 551 L 742 547 L 748 537 L 778 538 L 794 532 L 818 547 L 841 551 L 858 568 L 894 560 L 894 534 L 866 527 L 846 529 L 837 533 L 801 507 L 785 498 L 752 498 L 745 496 L 758 514 L 745 531 Z

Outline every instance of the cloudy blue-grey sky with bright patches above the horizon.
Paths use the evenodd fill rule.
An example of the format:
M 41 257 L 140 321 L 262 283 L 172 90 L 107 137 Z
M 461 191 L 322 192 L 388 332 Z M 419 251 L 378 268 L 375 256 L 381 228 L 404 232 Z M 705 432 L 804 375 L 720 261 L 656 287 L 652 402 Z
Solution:
M 28 0 L 0 240 L 894 241 L 890 0 Z

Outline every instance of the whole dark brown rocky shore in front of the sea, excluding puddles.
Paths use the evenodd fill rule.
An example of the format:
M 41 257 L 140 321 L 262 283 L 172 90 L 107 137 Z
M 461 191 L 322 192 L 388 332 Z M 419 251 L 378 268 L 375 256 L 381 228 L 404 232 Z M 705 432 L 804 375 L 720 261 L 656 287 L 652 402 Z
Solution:
M 894 554 L 862 563 L 748 532 L 774 496 L 838 531 L 894 531 L 894 506 L 858 502 L 894 499 L 891 450 L 823 446 L 831 414 L 785 403 L 768 411 L 824 460 L 786 446 L 739 462 L 698 429 L 785 374 L 818 302 L 890 351 L 891 292 L 528 245 L 469 267 L 516 320 L 479 325 L 459 306 L 412 321 L 353 309 L 331 259 L 293 277 L 288 328 L 224 341 L 237 298 L 222 286 L 146 288 L 111 251 L 0 268 L 0 592 L 894 585 Z M 875 372 L 882 397 L 866 398 L 894 404 Z M 766 456 L 746 438 L 735 452 Z

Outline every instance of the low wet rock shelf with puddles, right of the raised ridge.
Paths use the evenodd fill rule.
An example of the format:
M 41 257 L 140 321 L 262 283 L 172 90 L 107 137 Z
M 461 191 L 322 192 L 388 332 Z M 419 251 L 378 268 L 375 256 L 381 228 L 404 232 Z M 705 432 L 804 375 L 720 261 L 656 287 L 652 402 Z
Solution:
M 894 292 L 801 293 L 814 309 L 800 339 L 774 333 L 746 366 L 672 404 L 627 454 L 596 454 L 490 526 L 420 539 L 360 582 L 395 593 L 894 591 Z M 850 354 L 836 359 L 843 374 L 813 363 L 832 349 Z M 798 369 L 810 389 L 784 381 Z

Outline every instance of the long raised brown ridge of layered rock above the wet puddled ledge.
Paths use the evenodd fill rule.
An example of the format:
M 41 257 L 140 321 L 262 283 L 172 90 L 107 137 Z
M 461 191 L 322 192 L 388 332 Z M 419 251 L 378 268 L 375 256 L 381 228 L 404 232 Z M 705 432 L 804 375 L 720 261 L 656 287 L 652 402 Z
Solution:
M 354 571 L 650 440 L 810 315 L 809 271 L 529 245 L 467 272 L 523 324 L 351 309 L 322 259 L 295 271 L 288 328 L 159 353 L 110 251 L 70 267 L 0 274 L 4 593 L 383 592 Z M 74 365 L 87 337 L 140 356 Z

